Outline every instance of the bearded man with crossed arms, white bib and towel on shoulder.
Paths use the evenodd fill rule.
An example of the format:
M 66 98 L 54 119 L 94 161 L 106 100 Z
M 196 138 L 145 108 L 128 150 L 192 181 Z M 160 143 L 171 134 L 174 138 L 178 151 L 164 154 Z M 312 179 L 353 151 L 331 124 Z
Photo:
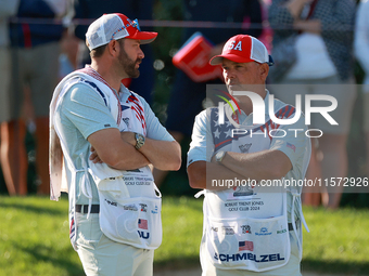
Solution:
M 153 274 L 162 201 L 149 166 L 178 170 L 180 146 L 122 79 L 139 76 L 140 44 L 156 36 L 102 15 L 86 34 L 91 65 L 66 76 L 50 104 L 51 199 L 68 193 L 69 237 L 88 276 Z

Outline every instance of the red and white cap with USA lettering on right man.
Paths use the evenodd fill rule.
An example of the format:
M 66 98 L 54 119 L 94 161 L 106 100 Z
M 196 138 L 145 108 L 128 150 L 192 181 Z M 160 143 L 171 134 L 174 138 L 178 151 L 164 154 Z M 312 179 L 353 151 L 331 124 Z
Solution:
M 220 55 L 213 56 L 209 63 L 212 65 L 221 64 L 222 58 L 230 60 L 236 63 L 267 63 L 269 66 L 273 65 L 268 50 L 258 39 L 247 35 L 237 35 L 231 37 Z

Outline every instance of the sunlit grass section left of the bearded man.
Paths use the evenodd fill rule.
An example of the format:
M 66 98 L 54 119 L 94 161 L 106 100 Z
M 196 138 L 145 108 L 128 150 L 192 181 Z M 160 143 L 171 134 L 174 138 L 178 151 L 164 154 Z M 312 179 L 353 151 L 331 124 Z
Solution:
M 80 275 L 68 241 L 67 201 L 0 197 L 0 275 Z

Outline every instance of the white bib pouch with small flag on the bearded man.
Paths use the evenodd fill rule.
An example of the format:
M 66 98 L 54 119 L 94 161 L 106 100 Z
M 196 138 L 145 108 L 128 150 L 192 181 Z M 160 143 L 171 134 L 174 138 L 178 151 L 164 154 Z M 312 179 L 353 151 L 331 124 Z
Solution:
M 122 186 L 125 185 L 122 179 Z M 126 197 L 99 188 L 100 227 L 110 239 L 142 249 L 162 244 L 162 198 Z

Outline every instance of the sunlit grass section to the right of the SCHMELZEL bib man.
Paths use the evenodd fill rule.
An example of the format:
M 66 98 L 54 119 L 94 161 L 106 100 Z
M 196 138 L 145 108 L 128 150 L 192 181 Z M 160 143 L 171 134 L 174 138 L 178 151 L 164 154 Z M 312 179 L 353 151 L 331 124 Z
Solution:
M 303 268 L 369 275 L 369 211 L 304 208 L 310 233 L 304 233 Z

